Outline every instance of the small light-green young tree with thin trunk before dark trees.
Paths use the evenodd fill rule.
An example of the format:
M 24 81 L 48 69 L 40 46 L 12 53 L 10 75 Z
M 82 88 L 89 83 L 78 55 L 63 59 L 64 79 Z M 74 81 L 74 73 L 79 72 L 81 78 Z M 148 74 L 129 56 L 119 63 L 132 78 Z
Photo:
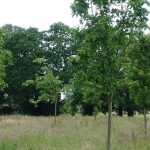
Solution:
M 26 87 L 35 86 L 38 96 L 31 97 L 30 103 L 38 107 L 40 102 L 55 104 L 55 123 L 57 116 L 57 100 L 60 93 L 60 80 L 53 75 L 53 72 L 47 67 L 43 58 L 37 58 L 34 63 L 40 65 L 35 80 L 27 80 L 23 85 Z

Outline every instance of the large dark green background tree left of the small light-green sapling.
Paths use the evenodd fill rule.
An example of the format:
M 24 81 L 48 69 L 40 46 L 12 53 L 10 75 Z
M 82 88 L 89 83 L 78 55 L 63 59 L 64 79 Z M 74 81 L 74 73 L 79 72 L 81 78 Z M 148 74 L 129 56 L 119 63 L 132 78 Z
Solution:
M 3 36 L 6 36 L 4 48 L 11 51 L 13 57 L 13 65 L 6 68 L 6 82 L 9 85 L 6 91 L 11 105 L 19 105 L 23 112 L 30 95 L 36 96 L 37 93 L 35 87 L 27 89 L 22 84 L 26 80 L 35 79 L 38 69 L 33 60 L 42 57 L 44 51 L 40 47 L 42 37 L 38 29 L 14 28 L 12 32 L 8 32 L 9 28 L 3 28 Z

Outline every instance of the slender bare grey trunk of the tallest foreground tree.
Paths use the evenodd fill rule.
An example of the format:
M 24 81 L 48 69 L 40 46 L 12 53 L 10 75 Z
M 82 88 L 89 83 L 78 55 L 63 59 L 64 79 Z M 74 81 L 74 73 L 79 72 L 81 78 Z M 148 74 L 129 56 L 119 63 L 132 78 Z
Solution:
M 106 147 L 106 150 L 110 150 L 111 124 L 112 124 L 112 100 L 108 103 L 108 130 L 107 130 L 107 147 Z

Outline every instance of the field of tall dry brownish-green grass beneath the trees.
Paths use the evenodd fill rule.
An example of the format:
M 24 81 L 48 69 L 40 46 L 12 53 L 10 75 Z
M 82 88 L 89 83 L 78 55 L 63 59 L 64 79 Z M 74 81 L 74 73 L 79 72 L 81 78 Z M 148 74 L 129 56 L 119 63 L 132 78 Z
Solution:
M 148 128 L 150 125 L 148 124 Z M 0 150 L 105 150 L 107 118 L 1 116 Z M 112 150 L 150 150 L 143 118 L 113 116 Z

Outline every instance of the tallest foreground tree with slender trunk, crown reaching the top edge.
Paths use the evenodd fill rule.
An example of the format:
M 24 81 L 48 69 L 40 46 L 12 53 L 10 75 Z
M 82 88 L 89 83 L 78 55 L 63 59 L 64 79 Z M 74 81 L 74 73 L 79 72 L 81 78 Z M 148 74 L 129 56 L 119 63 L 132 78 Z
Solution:
M 142 0 L 74 0 L 73 14 L 81 17 L 87 30 L 83 46 L 78 50 L 87 69 L 94 70 L 99 91 L 108 102 L 107 150 L 111 143 L 112 101 L 121 84 L 120 71 L 130 36 L 137 28 L 146 27 L 148 11 Z M 82 61 L 81 61 L 82 62 Z

